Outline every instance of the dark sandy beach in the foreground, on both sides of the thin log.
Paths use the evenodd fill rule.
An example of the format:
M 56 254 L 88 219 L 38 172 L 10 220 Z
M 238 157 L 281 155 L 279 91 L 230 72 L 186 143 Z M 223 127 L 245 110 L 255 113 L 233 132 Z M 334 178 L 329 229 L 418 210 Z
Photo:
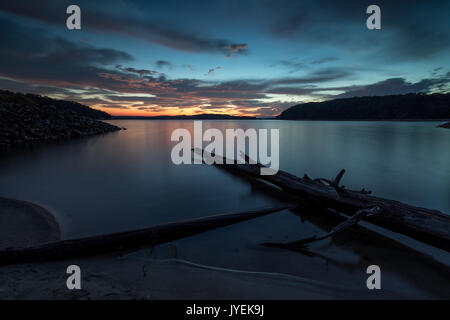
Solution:
M 0 204 L 3 248 L 60 238 L 57 221 L 42 207 L 5 198 Z M 186 245 L 183 242 L 189 244 L 190 239 L 195 238 L 181 240 L 176 245 L 183 248 Z M 344 286 L 322 278 L 324 274 L 319 270 L 310 278 L 218 267 L 194 263 L 178 254 L 161 254 L 171 252 L 174 245 L 162 244 L 123 256 L 111 253 L 2 266 L 0 299 L 408 299 L 417 295 L 413 291 L 370 291 L 363 286 Z M 308 260 L 304 263 L 298 267 L 310 270 Z M 71 291 L 66 287 L 66 270 L 72 264 L 81 268 L 81 290 Z

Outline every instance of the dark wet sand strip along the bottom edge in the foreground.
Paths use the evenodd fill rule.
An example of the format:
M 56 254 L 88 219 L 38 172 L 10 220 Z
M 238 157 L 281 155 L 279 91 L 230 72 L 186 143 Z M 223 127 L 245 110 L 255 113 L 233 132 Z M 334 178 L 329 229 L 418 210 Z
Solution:
M 66 287 L 81 268 L 81 290 Z M 0 299 L 401 299 L 286 274 L 196 265 L 180 259 L 113 255 L 0 268 Z

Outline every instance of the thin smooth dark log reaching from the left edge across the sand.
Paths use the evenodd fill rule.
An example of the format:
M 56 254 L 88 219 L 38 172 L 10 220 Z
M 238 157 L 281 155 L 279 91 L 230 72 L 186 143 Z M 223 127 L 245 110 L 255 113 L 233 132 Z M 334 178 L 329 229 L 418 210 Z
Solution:
M 261 210 L 220 214 L 171 222 L 140 230 L 57 241 L 27 248 L 11 248 L 0 251 L 0 265 L 42 262 L 154 247 L 158 244 L 294 207 L 295 205 L 283 205 Z

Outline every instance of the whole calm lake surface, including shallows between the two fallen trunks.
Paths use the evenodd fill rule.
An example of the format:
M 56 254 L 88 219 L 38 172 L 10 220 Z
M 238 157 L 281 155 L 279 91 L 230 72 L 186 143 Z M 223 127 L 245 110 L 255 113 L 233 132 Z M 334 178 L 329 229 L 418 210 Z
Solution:
M 0 158 L 0 195 L 48 208 L 61 223 L 65 238 L 278 203 L 248 182 L 213 166 L 174 165 L 171 133 L 176 128 L 192 130 L 192 121 L 109 122 L 127 130 L 4 154 Z M 437 124 L 203 121 L 204 129 L 214 127 L 223 132 L 226 128 L 279 129 L 281 170 L 332 178 L 345 168 L 342 183 L 347 188 L 364 187 L 377 196 L 450 213 L 450 130 L 435 128 Z M 293 241 L 329 227 L 283 211 L 180 240 L 176 255 L 195 263 L 334 279 L 333 283 L 346 285 L 365 281 L 363 266 L 382 259 L 393 268 L 387 278 L 395 290 L 448 297 L 448 289 L 435 286 L 445 281 L 439 274 L 447 271 L 448 275 L 448 268 L 441 269 L 434 260 L 403 247 L 392 249 L 395 246 L 390 242 L 387 246 L 378 238 L 371 237 L 374 242 L 370 246 L 383 248 L 377 252 L 354 245 L 350 248 L 336 239 L 325 249 L 319 246 L 322 257 L 312 258 L 260 245 Z M 174 254 L 171 248 L 162 246 L 156 250 L 159 253 L 152 254 L 168 257 Z M 436 275 L 428 284 L 418 284 L 413 277 L 399 280 L 407 277 L 402 269 L 407 268 L 406 260 L 416 261 L 421 272 L 428 268 Z M 330 261 L 334 261 L 332 266 Z M 416 269 L 411 270 L 413 275 Z

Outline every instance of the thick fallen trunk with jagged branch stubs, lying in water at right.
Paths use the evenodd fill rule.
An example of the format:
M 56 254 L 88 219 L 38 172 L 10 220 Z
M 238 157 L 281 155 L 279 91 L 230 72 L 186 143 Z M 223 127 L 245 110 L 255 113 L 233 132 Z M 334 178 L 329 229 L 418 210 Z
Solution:
M 202 155 L 203 150 L 194 150 Z M 211 157 L 211 154 L 203 154 Z M 245 156 L 248 162 L 248 156 Z M 223 163 L 226 163 L 224 158 Z M 335 179 L 311 179 L 307 175 L 299 178 L 293 174 L 279 170 L 275 175 L 261 175 L 261 164 L 215 164 L 225 170 L 244 174 L 272 183 L 284 192 L 307 201 L 314 206 L 331 208 L 347 215 L 360 210 L 378 207 L 376 215 L 367 216 L 364 220 L 398 232 L 428 245 L 450 252 L 450 216 L 437 210 L 430 210 L 370 195 L 370 191 L 347 190 L 339 186 L 345 173 L 341 170 Z

